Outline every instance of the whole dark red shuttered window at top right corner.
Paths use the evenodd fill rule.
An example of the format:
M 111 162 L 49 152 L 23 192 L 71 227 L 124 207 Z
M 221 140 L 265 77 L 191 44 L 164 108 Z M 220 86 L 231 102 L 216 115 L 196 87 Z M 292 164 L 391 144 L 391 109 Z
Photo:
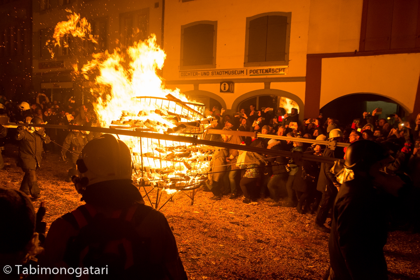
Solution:
M 420 47 L 419 0 L 364 0 L 359 51 Z

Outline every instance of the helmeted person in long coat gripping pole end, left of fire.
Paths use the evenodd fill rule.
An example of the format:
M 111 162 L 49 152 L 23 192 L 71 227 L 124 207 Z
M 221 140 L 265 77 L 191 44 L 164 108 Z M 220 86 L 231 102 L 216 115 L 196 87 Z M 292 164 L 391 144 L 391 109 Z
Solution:
M 31 123 L 42 124 L 41 118 L 33 118 Z M 44 128 L 30 127 L 24 129 L 18 126 L 16 140 L 19 140 L 18 166 L 22 168 L 25 175 L 22 179 L 20 190 L 26 195 L 29 194 L 34 200 L 39 198 L 39 186 L 36 170 L 39 169 L 42 159 L 42 143 L 50 143 L 50 137 L 45 134 Z

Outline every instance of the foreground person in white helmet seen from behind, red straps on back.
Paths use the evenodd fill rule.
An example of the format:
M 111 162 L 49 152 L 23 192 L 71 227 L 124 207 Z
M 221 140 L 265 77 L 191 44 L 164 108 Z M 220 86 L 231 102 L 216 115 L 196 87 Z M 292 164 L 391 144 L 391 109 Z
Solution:
M 168 221 L 132 183 L 127 145 L 104 134 L 86 144 L 76 165 L 72 181 L 86 204 L 51 224 L 40 266 L 81 267 L 89 279 L 187 280 Z M 91 275 L 96 268 L 101 275 Z

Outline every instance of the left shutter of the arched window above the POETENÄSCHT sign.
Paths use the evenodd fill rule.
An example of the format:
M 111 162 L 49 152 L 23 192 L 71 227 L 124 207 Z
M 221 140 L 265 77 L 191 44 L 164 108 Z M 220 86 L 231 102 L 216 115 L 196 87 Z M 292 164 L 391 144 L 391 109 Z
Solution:
M 249 21 L 248 62 L 265 61 L 268 16 Z

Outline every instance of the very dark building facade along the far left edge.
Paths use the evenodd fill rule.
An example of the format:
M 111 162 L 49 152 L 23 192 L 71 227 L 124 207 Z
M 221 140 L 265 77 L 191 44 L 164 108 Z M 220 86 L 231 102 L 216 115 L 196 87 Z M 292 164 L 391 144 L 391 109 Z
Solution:
M 1 0 L 0 14 L 0 95 L 25 99 L 32 89 L 32 0 Z

